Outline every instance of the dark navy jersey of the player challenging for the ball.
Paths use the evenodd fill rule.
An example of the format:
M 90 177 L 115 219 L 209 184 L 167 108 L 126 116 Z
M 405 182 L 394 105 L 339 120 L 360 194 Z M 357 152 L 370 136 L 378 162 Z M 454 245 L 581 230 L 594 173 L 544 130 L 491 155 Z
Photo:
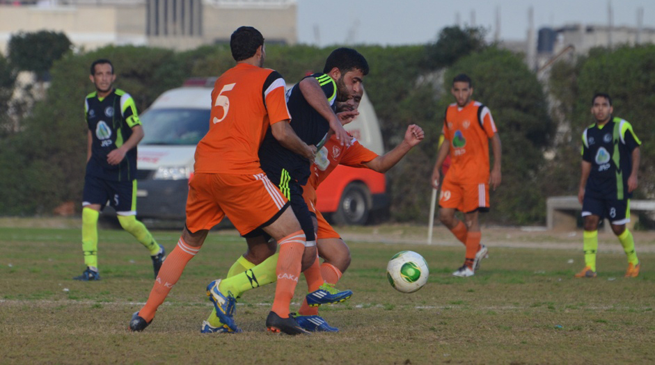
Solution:
M 326 99 L 334 108 L 337 95 L 336 82 L 327 74 L 313 74 L 321 86 Z M 308 145 L 317 145 L 325 133 L 330 130 L 329 122 L 322 117 L 305 99 L 300 90 L 300 83 L 287 91 L 287 108 L 291 115 L 291 127 L 298 137 Z M 271 181 L 278 183 L 283 170 L 299 184 L 305 185 L 310 174 L 310 163 L 303 156 L 286 149 L 275 139 L 271 129 L 266 132 L 259 149 L 260 164 Z

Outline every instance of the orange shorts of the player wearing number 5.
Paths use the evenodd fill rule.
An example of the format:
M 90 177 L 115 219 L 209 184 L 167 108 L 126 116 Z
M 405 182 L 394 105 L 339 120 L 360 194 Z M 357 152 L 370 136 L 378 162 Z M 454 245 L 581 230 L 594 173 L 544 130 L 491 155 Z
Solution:
M 264 172 L 257 175 L 198 173 L 189 182 L 187 228 L 211 229 L 228 216 L 240 234 L 269 222 L 287 204 Z

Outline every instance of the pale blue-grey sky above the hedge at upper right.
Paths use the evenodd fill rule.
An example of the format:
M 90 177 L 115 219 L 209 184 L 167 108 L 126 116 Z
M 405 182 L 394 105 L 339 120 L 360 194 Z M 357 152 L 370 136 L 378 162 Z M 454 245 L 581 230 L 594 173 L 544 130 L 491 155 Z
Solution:
M 608 24 L 608 3 L 615 26 L 655 29 L 655 0 L 297 0 L 298 41 L 325 47 L 332 44 L 425 44 L 434 42 L 445 26 L 483 26 L 488 38 L 525 40 L 532 7 L 535 31 L 581 23 Z M 498 10 L 497 10 L 498 9 Z

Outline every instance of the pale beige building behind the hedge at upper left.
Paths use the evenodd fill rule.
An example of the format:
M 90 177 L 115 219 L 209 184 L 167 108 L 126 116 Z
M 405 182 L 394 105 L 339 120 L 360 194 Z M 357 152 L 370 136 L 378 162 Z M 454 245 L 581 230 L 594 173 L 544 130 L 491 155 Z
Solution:
M 152 45 L 176 50 L 228 42 L 249 25 L 267 42 L 297 42 L 297 0 L 0 0 L 0 51 L 11 35 L 65 33 L 75 47 Z

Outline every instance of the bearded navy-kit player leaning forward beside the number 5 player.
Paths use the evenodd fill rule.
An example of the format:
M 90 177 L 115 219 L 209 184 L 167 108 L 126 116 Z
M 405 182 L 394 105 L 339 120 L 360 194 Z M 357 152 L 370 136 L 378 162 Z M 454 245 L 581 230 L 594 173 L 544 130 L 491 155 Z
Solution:
M 326 59 L 322 73 L 306 76 L 287 91 L 290 124 L 304 143 L 318 145 L 330 132 L 336 134 L 342 145 L 350 145 L 351 138 L 343 129 L 342 121 L 352 119 L 358 113 L 347 111 L 336 115 L 335 102 L 345 101 L 355 92 L 361 94 L 363 78 L 368 72 L 368 63 L 358 51 L 338 48 Z M 302 269 L 310 292 L 306 296 L 306 302 L 308 305 L 321 305 L 342 302 L 350 298 L 352 291 L 334 289 L 331 284 L 324 281 L 320 273 L 313 213 L 310 213 L 302 196 L 302 186 L 307 183 L 312 161 L 278 143 L 270 129 L 259 149 L 259 158 L 267 177 L 290 200 L 291 207 L 305 232 L 307 241 Z M 271 277 L 268 273 L 272 272 L 271 269 L 278 259 L 278 255 L 275 254 L 276 243 L 269 243 L 269 251 L 265 252 L 267 259 L 251 256 L 262 252 L 256 248 L 269 241 L 270 237 L 263 233 L 258 229 L 244 235 L 248 243 L 248 251 L 228 272 L 230 282 L 234 285 L 221 287 L 221 291 L 224 290 L 225 293 L 229 291 L 238 297 L 243 291 L 275 281 L 275 277 Z M 252 262 L 260 262 L 260 264 L 255 266 Z M 239 273 L 244 275 L 235 275 Z M 258 273 L 261 274 L 258 276 Z M 227 281 L 225 283 L 227 284 Z M 216 317 L 214 310 L 210 318 L 203 323 L 201 330 L 219 332 L 221 327 L 223 324 Z

